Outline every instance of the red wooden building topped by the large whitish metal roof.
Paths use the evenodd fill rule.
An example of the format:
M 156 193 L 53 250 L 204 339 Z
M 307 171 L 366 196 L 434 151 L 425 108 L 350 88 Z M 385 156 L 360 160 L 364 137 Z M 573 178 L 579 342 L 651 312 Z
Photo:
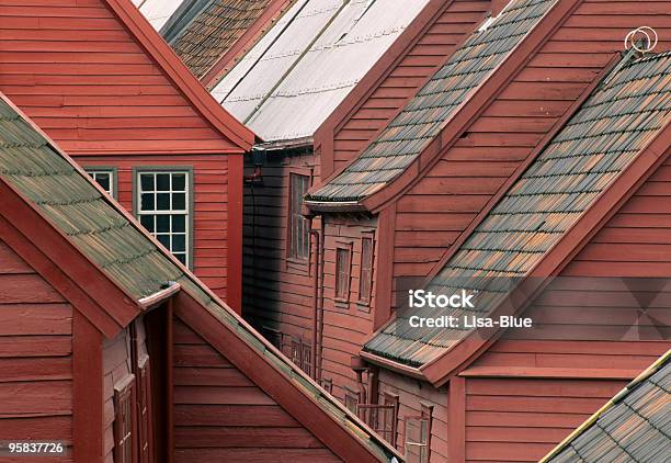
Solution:
M 303 216 L 302 197 L 320 179 L 323 127 L 354 111 L 359 126 L 348 132 L 365 143 L 355 132 L 384 125 L 391 108 L 407 101 L 486 16 L 490 2 L 405 5 L 297 1 L 213 87 L 224 108 L 264 140 L 254 147 L 257 165 L 248 162 L 244 314 L 311 374 L 320 358 L 314 326 L 322 230 L 318 217 Z M 333 66 L 350 61 L 355 65 Z M 372 103 L 362 108 L 368 97 Z M 372 331 L 369 301 L 356 307 L 361 319 L 350 325 L 357 331 L 351 336 L 362 337 Z M 350 324 L 348 317 L 329 323 Z M 344 328 L 342 334 L 348 337 Z M 349 357 L 338 360 L 346 370 Z M 343 397 L 342 387 L 334 393 Z

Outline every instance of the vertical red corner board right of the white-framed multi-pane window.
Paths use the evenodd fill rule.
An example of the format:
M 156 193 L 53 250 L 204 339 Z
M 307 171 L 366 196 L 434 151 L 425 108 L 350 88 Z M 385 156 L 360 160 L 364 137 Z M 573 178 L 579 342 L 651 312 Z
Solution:
M 242 313 L 242 183 L 243 157 L 228 157 L 228 274 L 226 300 Z

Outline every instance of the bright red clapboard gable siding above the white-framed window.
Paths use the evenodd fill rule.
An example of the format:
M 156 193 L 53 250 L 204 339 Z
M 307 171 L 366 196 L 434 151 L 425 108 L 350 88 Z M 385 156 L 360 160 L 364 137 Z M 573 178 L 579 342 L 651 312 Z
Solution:
M 103 0 L 3 1 L 0 37 L 0 90 L 68 153 L 240 153 Z

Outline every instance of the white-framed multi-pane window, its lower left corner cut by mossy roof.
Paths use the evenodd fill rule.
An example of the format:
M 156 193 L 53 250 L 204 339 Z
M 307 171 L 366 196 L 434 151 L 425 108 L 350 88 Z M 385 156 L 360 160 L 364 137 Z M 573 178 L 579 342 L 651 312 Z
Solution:
M 140 224 L 183 264 L 191 266 L 189 170 L 137 172 L 136 214 Z

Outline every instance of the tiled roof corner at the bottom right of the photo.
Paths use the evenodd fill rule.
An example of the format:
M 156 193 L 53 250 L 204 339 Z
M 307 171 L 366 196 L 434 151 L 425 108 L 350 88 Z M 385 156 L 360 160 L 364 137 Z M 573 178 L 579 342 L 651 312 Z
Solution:
M 662 462 L 671 455 L 671 350 L 542 460 Z

